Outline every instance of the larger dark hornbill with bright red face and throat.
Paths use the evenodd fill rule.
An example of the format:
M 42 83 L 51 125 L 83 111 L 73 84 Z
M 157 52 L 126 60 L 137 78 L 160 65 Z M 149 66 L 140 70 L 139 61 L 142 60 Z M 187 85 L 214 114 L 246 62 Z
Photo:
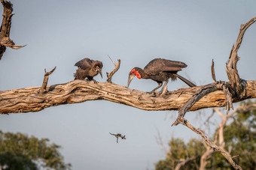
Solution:
M 175 80 L 178 77 L 178 79 L 181 79 L 190 87 L 197 86 L 194 85 L 194 83 L 177 74 L 177 72 L 184 67 L 187 67 L 187 64 L 184 64 L 181 61 L 172 61 L 163 58 L 156 58 L 150 61 L 148 65 L 144 67 L 144 70 L 142 70 L 139 67 L 134 67 L 129 73 L 127 85 L 129 87 L 130 82 L 132 81 L 134 76 L 137 76 L 138 79 L 152 79 L 158 83 L 157 88 L 154 88 L 151 91 L 151 93 L 157 91 L 157 89 L 160 88 L 163 85 L 163 82 L 165 81 L 165 84 L 163 85 L 163 88 L 160 91 L 160 94 L 162 94 L 163 89 L 166 87 L 169 81 L 169 78 Z

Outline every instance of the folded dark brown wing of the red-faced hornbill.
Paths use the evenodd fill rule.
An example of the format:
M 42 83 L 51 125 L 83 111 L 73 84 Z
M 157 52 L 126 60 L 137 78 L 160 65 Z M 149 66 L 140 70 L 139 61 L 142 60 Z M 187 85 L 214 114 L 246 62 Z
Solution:
M 150 75 L 157 75 L 163 71 L 179 71 L 182 68 L 187 67 L 181 61 L 166 60 L 163 58 L 156 58 L 150 61 L 144 68 L 144 72 Z

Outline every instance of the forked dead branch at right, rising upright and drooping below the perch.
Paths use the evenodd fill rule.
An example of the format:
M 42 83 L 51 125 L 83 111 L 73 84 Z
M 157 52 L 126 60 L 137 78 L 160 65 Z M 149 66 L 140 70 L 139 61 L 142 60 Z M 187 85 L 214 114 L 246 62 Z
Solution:
M 225 95 L 225 106 L 227 109 L 227 113 L 230 109 L 233 109 L 233 100 L 238 100 L 239 98 L 246 97 L 247 91 L 246 87 L 248 83 L 245 80 L 242 80 L 239 78 L 238 71 L 236 69 L 236 63 L 239 60 L 239 57 L 237 56 L 237 51 L 239 49 L 239 46 L 242 43 L 242 37 L 245 34 L 246 29 L 253 24 L 256 21 L 256 17 L 252 18 L 250 21 L 245 23 L 245 25 L 241 25 L 239 36 L 236 40 L 236 45 L 232 47 L 230 52 L 229 61 L 226 64 L 226 71 L 228 79 L 230 79 L 230 84 L 227 82 L 215 82 L 210 85 L 205 85 L 203 88 L 200 88 L 187 102 L 184 104 L 184 106 L 181 107 L 181 110 L 178 112 L 178 118 L 172 125 L 178 125 L 183 124 L 184 126 L 190 128 L 190 130 L 193 130 L 195 133 L 200 134 L 202 136 L 203 140 L 206 142 L 207 145 L 209 145 L 210 148 L 213 148 L 213 151 L 219 151 L 221 154 L 229 161 L 229 163 L 233 166 L 234 169 L 241 169 L 240 166 L 236 165 L 236 163 L 233 161 L 230 154 L 224 150 L 221 146 L 215 145 L 211 140 L 209 140 L 206 135 L 203 133 L 203 130 L 196 129 L 193 127 L 189 121 L 187 121 L 184 118 L 185 113 L 188 109 L 190 109 L 194 104 L 197 103 L 198 100 L 200 100 L 202 97 L 206 96 L 206 94 L 211 94 L 212 92 L 223 90 Z M 215 74 L 214 74 L 214 67 L 212 63 L 212 79 L 215 80 Z M 227 120 L 226 120 L 227 121 Z M 222 125 L 222 128 L 224 125 Z M 223 136 L 223 134 L 222 134 Z M 222 142 L 224 142 L 223 139 L 221 139 Z M 220 144 L 222 145 L 222 144 Z

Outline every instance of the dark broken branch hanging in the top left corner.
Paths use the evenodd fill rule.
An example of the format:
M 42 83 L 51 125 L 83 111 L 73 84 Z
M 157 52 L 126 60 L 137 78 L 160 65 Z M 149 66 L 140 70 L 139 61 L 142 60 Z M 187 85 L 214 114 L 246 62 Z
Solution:
M 10 1 L 1 0 L 4 7 L 2 25 L 0 28 L 0 60 L 2 55 L 5 53 L 6 46 L 12 49 L 20 49 L 23 46 L 16 46 L 14 41 L 10 39 L 10 29 L 11 29 L 11 16 L 14 15 L 13 4 Z

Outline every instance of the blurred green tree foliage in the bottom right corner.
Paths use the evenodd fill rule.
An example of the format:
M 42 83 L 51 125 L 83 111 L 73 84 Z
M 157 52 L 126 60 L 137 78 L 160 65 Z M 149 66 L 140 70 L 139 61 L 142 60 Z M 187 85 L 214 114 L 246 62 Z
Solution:
M 241 106 L 250 106 L 255 102 L 251 100 L 240 103 Z M 215 136 L 215 134 L 214 134 Z M 214 138 L 214 136 L 212 138 Z M 243 169 L 255 169 L 256 167 L 256 109 L 245 111 L 238 110 L 230 124 L 224 127 L 225 149 L 234 158 L 237 164 Z M 182 139 L 171 139 L 169 141 L 169 151 L 165 160 L 160 160 L 155 164 L 157 170 L 175 169 L 181 161 L 184 165 L 181 169 L 199 169 L 200 157 L 206 151 L 200 139 L 190 139 L 185 143 Z M 223 156 L 215 152 L 209 159 L 206 169 L 233 169 Z

